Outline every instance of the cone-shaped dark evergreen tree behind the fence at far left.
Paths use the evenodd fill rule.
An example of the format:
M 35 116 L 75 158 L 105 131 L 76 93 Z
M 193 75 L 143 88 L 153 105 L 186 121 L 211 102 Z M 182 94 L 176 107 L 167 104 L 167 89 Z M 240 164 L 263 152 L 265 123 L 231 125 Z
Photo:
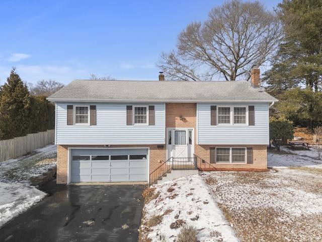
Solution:
M 1 87 L 0 139 L 25 136 L 30 129 L 30 96 L 27 86 L 13 68 L 10 77 Z

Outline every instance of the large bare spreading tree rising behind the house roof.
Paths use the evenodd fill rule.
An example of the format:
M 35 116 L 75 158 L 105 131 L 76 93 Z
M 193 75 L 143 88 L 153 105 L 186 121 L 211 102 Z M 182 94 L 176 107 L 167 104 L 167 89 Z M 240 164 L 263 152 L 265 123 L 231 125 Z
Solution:
M 258 1 L 232 0 L 213 8 L 208 17 L 179 34 L 177 51 L 161 54 L 157 66 L 171 79 L 201 81 L 220 75 L 237 80 L 268 60 L 283 33 L 276 14 Z

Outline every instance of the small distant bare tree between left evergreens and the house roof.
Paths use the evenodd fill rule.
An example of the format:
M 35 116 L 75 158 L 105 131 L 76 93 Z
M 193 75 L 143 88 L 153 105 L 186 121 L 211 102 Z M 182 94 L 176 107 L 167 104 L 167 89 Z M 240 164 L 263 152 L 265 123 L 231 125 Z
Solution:
M 29 83 L 30 93 L 35 96 L 47 96 L 49 97 L 51 94 L 55 93 L 59 89 L 63 88 L 64 84 L 60 82 L 56 82 L 53 80 L 40 80 L 37 82 L 36 86 L 32 83 Z

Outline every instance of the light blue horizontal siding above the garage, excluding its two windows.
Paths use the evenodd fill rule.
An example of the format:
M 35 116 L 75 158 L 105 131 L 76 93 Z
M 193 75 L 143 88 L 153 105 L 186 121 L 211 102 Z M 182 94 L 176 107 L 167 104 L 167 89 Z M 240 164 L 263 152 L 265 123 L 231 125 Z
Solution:
M 96 126 L 67 126 L 67 105 L 96 105 Z M 155 125 L 126 125 L 126 105 L 154 105 Z M 165 103 L 66 103 L 56 104 L 56 144 L 128 145 L 165 144 Z

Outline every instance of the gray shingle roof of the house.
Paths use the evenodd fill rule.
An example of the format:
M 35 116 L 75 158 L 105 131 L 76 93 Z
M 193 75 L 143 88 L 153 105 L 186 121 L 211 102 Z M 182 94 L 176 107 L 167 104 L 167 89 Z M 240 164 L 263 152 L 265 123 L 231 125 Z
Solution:
M 273 102 L 266 92 L 247 81 L 99 81 L 74 80 L 49 101 L 103 102 Z

